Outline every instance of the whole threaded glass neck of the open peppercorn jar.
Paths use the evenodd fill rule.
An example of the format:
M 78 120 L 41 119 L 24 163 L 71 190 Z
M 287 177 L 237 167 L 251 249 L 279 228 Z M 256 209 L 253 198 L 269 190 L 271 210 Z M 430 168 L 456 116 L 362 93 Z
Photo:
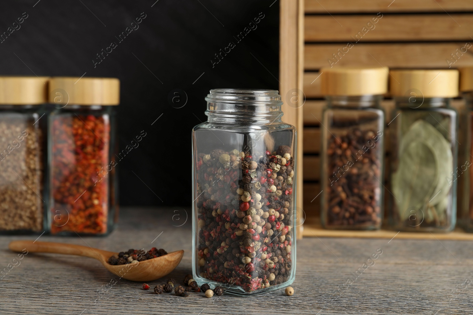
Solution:
M 276 90 L 214 89 L 205 98 L 208 121 L 240 124 L 281 122 L 281 96 Z

